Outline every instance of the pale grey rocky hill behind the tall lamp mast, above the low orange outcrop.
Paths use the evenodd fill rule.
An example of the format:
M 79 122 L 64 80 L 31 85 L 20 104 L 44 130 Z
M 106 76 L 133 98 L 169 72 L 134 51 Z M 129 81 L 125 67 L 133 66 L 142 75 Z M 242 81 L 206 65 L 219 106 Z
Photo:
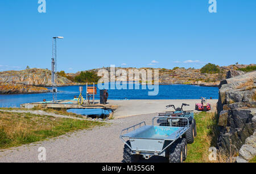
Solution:
M 0 72 L 0 82 L 33 86 L 51 86 L 51 71 L 48 69 L 26 69 Z M 57 86 L 76 85 L 68 78 L 57 75 Z

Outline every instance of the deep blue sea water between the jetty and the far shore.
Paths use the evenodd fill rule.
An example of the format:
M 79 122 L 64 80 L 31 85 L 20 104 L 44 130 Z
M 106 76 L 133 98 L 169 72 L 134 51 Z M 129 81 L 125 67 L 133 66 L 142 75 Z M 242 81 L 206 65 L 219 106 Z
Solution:
M 92 85 L 89 85 L 92 86 Z M 83 96 L 86 96 L 85 89 Z M 51 88 L 49 88 L 51 90 Z M 63 86 L 58 87 L 57 100 L 71 100 L 74 96 L 79 97 L 79 86 Z M 161 99 L 199 99 L 200 97 L 212 97 L 218 99 L 217 87 L 205 87 L 196 85 L 159 85 L 159 93 L 157 96 L 148 96 L 148 92 L 152 90 L 142 89 L 122 89 L 122 90 L 108 90 L 110 100 L 133 100 L 133 99 L 148 99 L 148 100 L 161 100 Z M 0 107 L 19 107 L 22 103 L 40 102 L 46 99 L 46 101 L 52 100 L 52 93 L 43 94 L 9 94 L 0 95 Z M 97 95 L 95 99 L 100 99 L 100 90 L 97 89 Z M 77 109 L 76 109 L 77 110 Z M 101 114 L 101 109 L 96 110 L 72 110 L 79 114 Z

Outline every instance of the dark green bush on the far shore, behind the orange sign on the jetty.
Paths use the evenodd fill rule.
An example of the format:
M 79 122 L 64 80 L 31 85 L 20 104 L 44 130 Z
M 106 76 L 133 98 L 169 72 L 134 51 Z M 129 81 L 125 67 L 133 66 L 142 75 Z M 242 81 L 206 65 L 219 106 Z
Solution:
M 98 82 L 100 77 L 97 76 L 96 72 L 86 71 L 81 72 L 75 77 L 75 82 Z

